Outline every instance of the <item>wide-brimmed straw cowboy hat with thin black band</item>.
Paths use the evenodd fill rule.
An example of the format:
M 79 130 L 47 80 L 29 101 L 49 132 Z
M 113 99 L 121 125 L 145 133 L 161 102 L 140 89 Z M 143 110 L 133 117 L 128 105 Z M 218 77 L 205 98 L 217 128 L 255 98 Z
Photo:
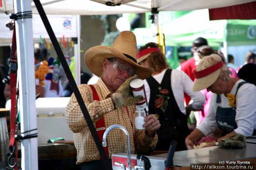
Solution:
M 103 72 L 102 62 L 105 58 L 120 58 L 135 66 L 139 79 L 146 79 L 153 73 L 153 68 L 142 67 L 137 64 L 136 37 L 131 31 L 122 31 L 114 40 L 111 47 L 94 46 L 84 54 L 86 66 L 100 77 Z

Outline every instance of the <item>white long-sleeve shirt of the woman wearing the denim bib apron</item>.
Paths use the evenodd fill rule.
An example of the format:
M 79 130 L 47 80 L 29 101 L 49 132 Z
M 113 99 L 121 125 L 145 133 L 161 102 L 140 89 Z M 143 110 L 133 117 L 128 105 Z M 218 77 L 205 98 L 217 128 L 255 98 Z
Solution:
M 230 91 L 230 94 L 235 95 L 237 86 L 244 80 L 238 80 L 234 87 Z M 229 106 L 228 98 L 221 94 L 221 103 L 216 103 L 217 94 L 211 95 L 211 103 L 208 115 L 196 128 L 202 131 L 204 135 L 212 133 L 217 129 L 218 125 L 215 120 L 217 107 L 231 107 Z M 251 136 L 253 129 L 256 127 L 256 86 L 253 84 L 243 84 L 236 95 L 236 118 L 237 129 L 234 129 L 236 133 L 240 133 L 245 136 Z

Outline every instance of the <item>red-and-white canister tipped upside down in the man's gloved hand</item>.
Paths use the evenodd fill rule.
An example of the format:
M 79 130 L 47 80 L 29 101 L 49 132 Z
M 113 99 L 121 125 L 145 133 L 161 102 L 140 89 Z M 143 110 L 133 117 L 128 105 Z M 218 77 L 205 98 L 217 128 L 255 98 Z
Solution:
M 146 96 L 146 90 L 144 86 L 144 82 L 142 79 L 134 79 L 130 82 L 130 87 L 132 90 L 133 97 L 137 97 L 139 95 L 143 96 L 143 100 L 135 103 L 136 110 L 143 110 L 144 108 L 147 108 L 147 96 Z

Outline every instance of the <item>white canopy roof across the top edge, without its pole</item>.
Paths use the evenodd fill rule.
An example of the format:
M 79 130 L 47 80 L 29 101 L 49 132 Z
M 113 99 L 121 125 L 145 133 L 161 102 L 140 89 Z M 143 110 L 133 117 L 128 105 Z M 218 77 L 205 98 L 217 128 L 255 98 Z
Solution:
M 150 12 L 151 8 L 158 8 L 158 11 L 190 11 L 226 7 L 252 1 L 255 0 L 41 0 L 41 3 L 47 15 L 103 15 L 144 13 Z M 121 3 L 121 5 L 106 6 L 106 2 Z M 12 11 L 12 0 L 2 0 L 2 3 L 1 13 Z M 38 13 L 33 1 L 31 8 L 33 13 Z

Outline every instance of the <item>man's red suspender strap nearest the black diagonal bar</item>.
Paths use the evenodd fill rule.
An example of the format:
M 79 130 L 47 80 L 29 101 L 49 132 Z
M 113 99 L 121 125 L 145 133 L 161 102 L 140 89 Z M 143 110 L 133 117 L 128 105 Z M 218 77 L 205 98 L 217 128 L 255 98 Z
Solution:
M 97 100 L 99 101 L 99 96 L 95 90 L 95 88 L 93 87 L 92 84 L 89 85 L 91 87 L 91 90 L 93 91 L 93 100 Z M 97 134 L 99 136 L 99 139 L 101 140 L 102 142 L 102 139 L 103 139 L 103 134 L 106 130 L 105 128 L 105 121 L 104 121 L 104 117 L 99 119 L 97 122 L 96 122 L 96 131 L 97 131 Z M 106 147 L 103 147 L 104 150 L 105 150 L 105 153 L 107 154 L 107 156 L 109 157 L 109 151 L 108 151 L 108 146 Z M 100 159 L 102 159 L 101 155 L 99 155 Z

